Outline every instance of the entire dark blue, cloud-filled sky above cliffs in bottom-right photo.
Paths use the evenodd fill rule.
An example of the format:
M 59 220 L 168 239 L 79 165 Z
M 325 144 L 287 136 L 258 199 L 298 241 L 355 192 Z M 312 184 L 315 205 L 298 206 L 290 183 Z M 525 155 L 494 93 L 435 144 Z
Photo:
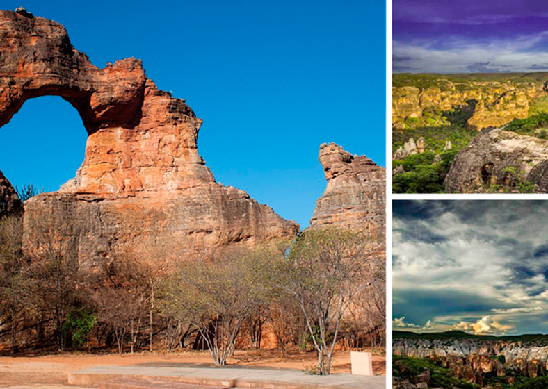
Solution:
M 394 201 L 393 327 L 548 333 L 546 201 Z

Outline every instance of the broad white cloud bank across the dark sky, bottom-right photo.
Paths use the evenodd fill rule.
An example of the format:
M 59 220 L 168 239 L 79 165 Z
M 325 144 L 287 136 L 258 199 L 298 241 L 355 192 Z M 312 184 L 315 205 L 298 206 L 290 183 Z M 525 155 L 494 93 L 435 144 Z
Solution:
M 512 279 L 513 267 L 522 265 L 517 263 L 514 246 L 519 242 L 530 246 L 545 243 L 542 234 L 538 233 L 545 228 L 542 226 L 545 216 L 531 217 L 522 213 L 522 217 L 506 222 L 505 229 L 500 228 L 503 215 L 495 209 L 490 209 L 484 218 L 475 222 L 462 222 L 451 211 L 428 220 L 413 220 L 412 224 L 396 218 L 393 222 L 393 253 L 398 260 L 393 271 L 394 289 L 432 292 L 451 289 L 505 304 L 523 306 L 533 301 L 548 304 L 548 294 L 531 293 L 548 289 L 548 282 L 542 274 L 527 279 L 527 285 L 515 283 Z M 425 234 L 444 239 L 427 243 L 405 235 L 405 231 L 416 231 L 419 227 Z M 515 231 L 522 232 L 518 236 Z M 528 266 L 540 266 L 541 262 L 544 263 L 538 261 Z

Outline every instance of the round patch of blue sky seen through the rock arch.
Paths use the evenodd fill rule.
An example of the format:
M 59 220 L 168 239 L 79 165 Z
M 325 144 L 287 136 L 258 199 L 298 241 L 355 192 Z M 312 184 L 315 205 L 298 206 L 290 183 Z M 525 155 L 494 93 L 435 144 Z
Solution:
M 88 133 L 79 113 L 61 97 L 29 99 L 0 129 L 0 170 L 18 188 L 53 192 L 83 163 Z

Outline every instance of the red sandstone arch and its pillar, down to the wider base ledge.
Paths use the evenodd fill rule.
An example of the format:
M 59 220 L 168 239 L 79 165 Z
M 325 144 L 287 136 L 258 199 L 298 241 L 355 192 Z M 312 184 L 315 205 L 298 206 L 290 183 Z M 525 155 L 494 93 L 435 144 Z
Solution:
M 196 147 L 201 120 L 184 101 L 159 91 L 140 60 L 99 69 L 72 47 L 61 24 L 9 11 L 1 17 L 0 125 L 26 99 L 56 95 L 72 104 L 89 135 L 74 192 L 180 188 L 181 169 L 192 173 L 185 179 L 213 181 Z M 158 144 L 163 152 L 152 155 Z M 151 181 L 150 167 L 159 163 L 163 180 Z

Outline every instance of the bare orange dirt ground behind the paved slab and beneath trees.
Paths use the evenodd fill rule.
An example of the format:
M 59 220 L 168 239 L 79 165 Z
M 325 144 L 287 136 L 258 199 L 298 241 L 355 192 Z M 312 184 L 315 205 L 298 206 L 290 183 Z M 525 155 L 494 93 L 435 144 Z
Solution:
M 314 366 L 314 353 L 292 354 L 285 358 L 271 350 L 236 351 L 229 365 L 268 366 L 305 370 Z M 138 354 L 58 354 L 47 356 L 0 356 L 0 388 L 64 388 L 67 373 L 99 365 L 138 365 L 150 363 L 211 363 L 208 351 L 179 351 L 171 354 L 147 352 Z M 333 370 L 350 372 L 350 352 L 339 351 L 333 358 Z M 385 356 L 373 355 L 373 371 L 385 375 Z M 69 387 L 69 386 L 67 386 Z M 74 388 L 70 386 L 70 388 Z M 76 389 L 76 388 L 74 388 Z

